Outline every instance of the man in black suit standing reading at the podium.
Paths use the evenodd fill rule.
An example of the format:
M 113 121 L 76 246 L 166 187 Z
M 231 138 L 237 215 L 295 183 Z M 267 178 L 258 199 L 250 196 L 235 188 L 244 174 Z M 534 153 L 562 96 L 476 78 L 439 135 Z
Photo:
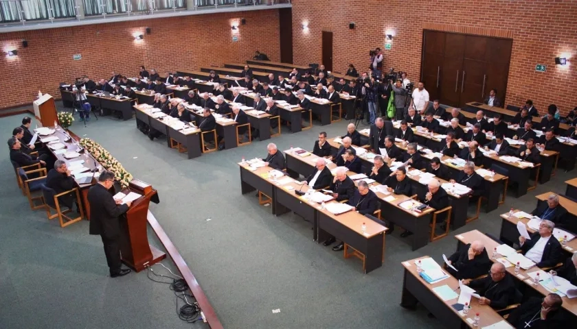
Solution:
M 126 276 L 130 269 L 120 268 L 120 225 L 118 217 L 128 211 L 131 202 L 122 204 L 115 200 L 109 189 L 114 184 L 114 173 L 103 171 L 98 178 L 98 184 L 88 191 L 90 205 L 90 234 L 100 235 L 104 245 L 106 263 L 109 265 L 111 278 Z

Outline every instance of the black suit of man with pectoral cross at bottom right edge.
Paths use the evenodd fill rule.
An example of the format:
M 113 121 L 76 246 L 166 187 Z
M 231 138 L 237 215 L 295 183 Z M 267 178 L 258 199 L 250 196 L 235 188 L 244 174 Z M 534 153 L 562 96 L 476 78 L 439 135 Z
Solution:
M 515 308 L 507 321 L 516 329 L 553 329 L 553 328 L 569 328 L 567 317 L 563 315 L 563 309 L 551 310 L 547 313 L 547 317 L 542 320 L 539 313 L 541 312 L 541 303 L 543 297 L 529 297 L 521 306 Z M 535 317 L 535 315 L 537 315 Z M 533 322 L 531 322 L 533 321 Z M 531 322 L 531 327 L 526 325 Z

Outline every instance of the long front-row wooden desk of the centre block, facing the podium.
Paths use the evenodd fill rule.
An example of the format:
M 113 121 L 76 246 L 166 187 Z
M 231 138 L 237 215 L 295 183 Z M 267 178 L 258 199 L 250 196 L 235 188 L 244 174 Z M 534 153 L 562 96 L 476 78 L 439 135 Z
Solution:
M 295 194 L 295 189 L 302 188 L 301 191 L 308 191 L 308 186 L 299 185 L 296 181 L 281 185 L 278 180 L 268 178 L 268 173 L 272 170 L 270 167 L 250 171 L 246 163 L 239 162 L 238 165 L 242 194 L 258 190 L 271 197 L 273 214 L 277 216 L 291 211 L 309 221 L 312 216 L 313 240 L 324 241 L 331 234 L 357 249 L 365 255 L 364 273 L 381 267 L 387 228 L 358 212 L 349 211 L 333 215 L 322 209 L 321 205 Z M 292 189 L 288 190 L 286 186 L 291 186 Z M 362 223 L 366 226 L 365 234 L 361 230 Z

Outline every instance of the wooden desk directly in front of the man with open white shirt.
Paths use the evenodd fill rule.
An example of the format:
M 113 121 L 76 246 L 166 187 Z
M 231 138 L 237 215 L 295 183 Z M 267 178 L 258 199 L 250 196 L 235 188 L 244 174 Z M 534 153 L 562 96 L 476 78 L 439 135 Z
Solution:
M 473 230 L 473 231 L 465 232 L 462 234 L 457 234 L 455 236 L 455 239 L 457 239 L 457 250 L 463 244 L 466 245 L 468 243 L 472 243 L 473 241 L 482 241 L 482 243 L 485 245 L 485 249 L 487 250 L 487 253 L 489 254 L 489 259 L 491 261 L 493 261 L 493 263 L 495 263 L 497 261 L 497 260 L 493 260 L 491 255 L 493 254 L 493 250 L 495 249 L 495 247 L 499 246 L 499 243 L 497 243 L 495 240 L 491 239 L 490 237 L 486 236 L 482 232 L 479 232 L 478 230 Z M 502 257 L 502 255 L 497 254 L 497 258 L 501 258 L 501 257 Z M 517 281 L 522 281 L 523 285 L 525 287 L 530 287 L 534 291 L 538 291 L 543 296 L 549 295 L 550 292 L 547 291 L 547 289 L 542 287 L 541 284 L 533 284 L 532 279 L 530 278 L 530 276 L 528 276 L 528 273 L 532 273 L 534 271 L 539 271 L 539 267 L 534 266 L 534 267 L 527 269 L 527 270 L 520 269 L 519 274 L 517 274 L 517 275 L 514 273 L 514 270 L 515 270 L 514 266 L 506 267 L 506 271 L 508 271 L 510 276 Z M 569 311 L 569 313 L 572 313 L 573 315 L 577 315 L 577 300 L 575 298 L 567 298 L 567 297 L 562 297 L 562 299 L 563 299 L 563 308 L 565 308 L 565 310 Z

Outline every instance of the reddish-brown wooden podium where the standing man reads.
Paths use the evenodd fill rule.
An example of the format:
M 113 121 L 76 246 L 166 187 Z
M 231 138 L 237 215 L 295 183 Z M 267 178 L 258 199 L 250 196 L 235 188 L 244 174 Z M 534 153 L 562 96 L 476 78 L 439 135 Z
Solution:
M 133 180 L 128 188 L 122 192 L 128 194 L 130 191 L 139 193 L 142 197 L 136 199 L 126 214 L 120 217 L 120 234 L 122 235 L 120 237 L 120 253 L 122 254 L 122 262 L 139 272 L 146 266 L 163 260 L 166 254 L 148 244 L 146 233 L 148 204 L 150 204 L 150 199 L 152 202 L 158 203 L 157 191 L 149 184 L 139 180 Z

